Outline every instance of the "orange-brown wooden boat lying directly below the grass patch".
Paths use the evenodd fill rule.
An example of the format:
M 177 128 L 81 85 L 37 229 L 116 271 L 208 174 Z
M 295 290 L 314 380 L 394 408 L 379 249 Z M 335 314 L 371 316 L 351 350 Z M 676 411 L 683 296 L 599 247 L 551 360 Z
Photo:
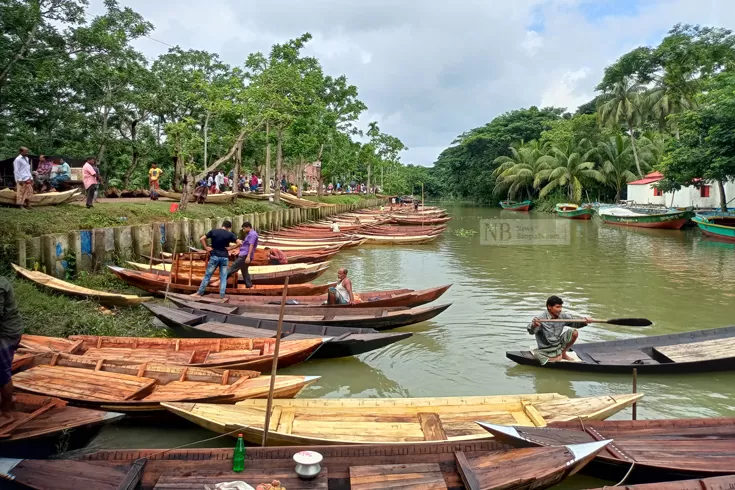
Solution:
M 273 365 L 274 338 L 247 339 L 167 339 L 149 337 L 100 337 L 72 335 L 69 339 L 24 336 L 21 345 L 48 344 L 48 350 L 66 352 L 89 359 L 117 359 L 140 363 L 193 366 L 210 369 L 250 369 L 269 372 Z M 54 347 L 60 341 L 71 345 Z M 293 366 L 309 359 L 322 345 L 322 339 L 284 340 L 278 351 L 278 367 Z M 31 347 L 31 350 L 33 347 Z M 39 349 L 41 350 L 41 349 Z M 43 349 L 46 350 L 46 349 Z

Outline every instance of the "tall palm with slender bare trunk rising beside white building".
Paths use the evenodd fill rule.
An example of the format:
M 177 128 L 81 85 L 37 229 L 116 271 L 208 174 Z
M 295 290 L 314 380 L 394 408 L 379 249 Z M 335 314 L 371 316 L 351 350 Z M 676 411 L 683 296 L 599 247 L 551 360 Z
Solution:
M 597 117 L 601 124 L 610 126 L 625 124 L 628 128 L 635 166 L 641 178 L 643 178 L 643 170 L 635 147 L 634 131 L 642 119 L 645 104 L 644 93 L 643 85 L 636 83 L 631 77 L 623 77 L 608 92 L 600 96 L 600 106 L 597 110 Z

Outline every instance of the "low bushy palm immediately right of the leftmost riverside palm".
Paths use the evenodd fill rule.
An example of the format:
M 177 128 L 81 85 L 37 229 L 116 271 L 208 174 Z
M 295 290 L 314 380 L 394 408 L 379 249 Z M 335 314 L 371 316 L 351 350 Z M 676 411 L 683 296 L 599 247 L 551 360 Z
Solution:
M 569 199 L 579 202 L 582 200 L 586 181 L 605 182 L 605 176 L 595 169 L 595 162 L 592 160 L 596 149 L 585 151 L 588 147 L 589 142 L 585 140 L 576 148 L 571 144 L 561 148 L 554 146 L 550 155 L 539 159 L 541 170 L 538 172 L 537 182 L 547 182 L 539 197 L 546 197 L 554 189 L 566 189 Z

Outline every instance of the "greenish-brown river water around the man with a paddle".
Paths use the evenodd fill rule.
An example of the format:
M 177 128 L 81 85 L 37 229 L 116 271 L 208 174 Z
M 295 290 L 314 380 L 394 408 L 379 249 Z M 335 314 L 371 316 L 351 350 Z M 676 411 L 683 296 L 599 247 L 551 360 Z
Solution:
M 436 303 L 452 306 L 434 320 L 404 327 L 413 337 L 359 357 L 310 361 L 279 371 L 320 375 L 301 397 L 419 397 L 556 392 L 567 396 L 628 393 L 629 375 L 584 374 L 518 366 L 507 350 L 526 350 L 526 324 L 561 296 L 565 309 L 598 319 L 646 317 L 647 328 L 590 325 L 580 342 L 685 332 L 735 319 L 735 247 L 696 228 L 647 230 L 541 213 L 452 206 L 447 231 L 433 243 L 361 246 L 341 252 L 321 282 L 347 267 L 355 290 L 452 284 Z M 487 221 L 490 220 L 490 221 Z M 562 245 L 483 244 L 483 223 L 559 220 Z M 549 222 L 541 223 L 548 226 Z M 546 229 L 546 228 L 542 228 Z M 475 230 L 469 235 L 463 230 Z M 735 416 L 735 373 L 639 375 L 638 418 Z M 630 418 L 630 409 L 614 418 Z M 214 434 L 192 426 L 104 429 L 92 448 L 172 447 Z M 230 446 L 216 439 L 199 446 Z M 590 482 L 575 481 L 580 488 Z M 574 485 L 572 485 L 574 486 Z

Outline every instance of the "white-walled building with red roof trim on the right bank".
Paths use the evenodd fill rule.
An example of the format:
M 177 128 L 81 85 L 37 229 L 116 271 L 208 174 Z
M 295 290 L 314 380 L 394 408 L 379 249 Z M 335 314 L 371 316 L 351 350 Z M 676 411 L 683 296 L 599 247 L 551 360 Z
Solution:
M 720 206 L 720 188 L 717 182 L 708 182 L 699 189 L 682 187 L 676 192 L 662 193 L 653 184 L 663 179 L 660 172 L 652 172 L 640 180 L 628 182 L 628 201 L 635 204 L 656 204 L 674 208 L 718 208 Z M 725 182 L 725 199 L 728 207 L 732 207 L 735 199 L 735 181 Z

